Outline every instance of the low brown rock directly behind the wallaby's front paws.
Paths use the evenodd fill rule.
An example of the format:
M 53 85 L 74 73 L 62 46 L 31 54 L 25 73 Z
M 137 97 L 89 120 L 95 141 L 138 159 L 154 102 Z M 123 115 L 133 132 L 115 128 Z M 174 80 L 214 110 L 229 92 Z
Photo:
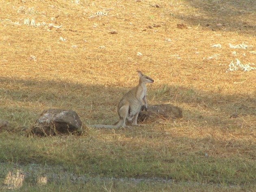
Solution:
M 182 118 L 182 109 L 171 104 L 148 106 L 147 111 L 143 110 L 139 113 L 138 121 L 142 122 L 151 118 Z

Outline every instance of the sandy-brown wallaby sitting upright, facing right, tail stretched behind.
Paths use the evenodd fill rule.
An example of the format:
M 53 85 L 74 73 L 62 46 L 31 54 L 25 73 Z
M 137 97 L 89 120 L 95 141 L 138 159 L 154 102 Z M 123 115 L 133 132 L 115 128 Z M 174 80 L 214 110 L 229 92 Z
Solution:
M 132 125 L 137 125 L 137 118 L 143 101 L 145 110 L 148 105 L 146 101 L 147 87 L 146 83 L 153 83 L 154 80 L 149 76 L 144 75 L 141 71 L 137 71 L 139 74 L 139 84 L 128 91 L 120 100 L 117 106 L 117 113 L 119 115 L 119 121 L 116 125 L 89 125 L 89 127 L 96 128 L 119 128 L 126 127 L 126 120 L 132 121 Z

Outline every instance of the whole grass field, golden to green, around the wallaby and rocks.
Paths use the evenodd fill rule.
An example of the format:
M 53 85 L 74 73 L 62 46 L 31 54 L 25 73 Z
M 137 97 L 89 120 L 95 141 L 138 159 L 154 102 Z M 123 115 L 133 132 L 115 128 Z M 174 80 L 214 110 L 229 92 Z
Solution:
M 254 191 L 256 73 L 228 68 L 236 59 L 256 67 L 255 10 L 251 0 L 0 0 L 0 119 L 9 121 L 0 130 L 0 162 Z M 174 104 L 184 117 L 87 127 L 117 121 L 136 70 L 155 80 L 148 104 Z M 48 108 L 78 112 L 82 136 L 26 137 L 22 127 Z M 197 190 L 131 191 L 147 188 Z

